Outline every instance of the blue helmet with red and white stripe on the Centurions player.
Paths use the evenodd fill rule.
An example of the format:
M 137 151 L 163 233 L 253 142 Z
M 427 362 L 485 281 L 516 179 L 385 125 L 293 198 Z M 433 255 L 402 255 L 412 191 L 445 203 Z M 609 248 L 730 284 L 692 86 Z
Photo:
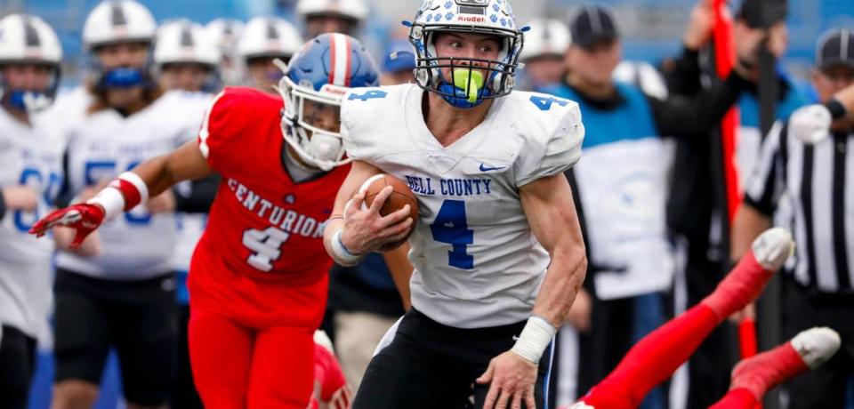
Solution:
M 349 163 L 341 138 L 341 101 L 350 88 L 377 85 L 376 64 L 359 40 L 330 33 L 302 44 L 278 83 L 285 100 L 285 140 L 302 161 L 324 171 Z M 334 111 L 332 124 L 318 117 L 327 109 Z

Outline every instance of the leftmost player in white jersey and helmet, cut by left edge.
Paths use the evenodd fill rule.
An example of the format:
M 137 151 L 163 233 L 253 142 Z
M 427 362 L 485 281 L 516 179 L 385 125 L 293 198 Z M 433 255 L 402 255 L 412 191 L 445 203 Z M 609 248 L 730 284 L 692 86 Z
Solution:
M 53 243 L 27 234 L 61 185 L 63 142 L 36 111 L 59 84 L 59 39 L 36 16 L 0 20 L 0 400 L 26 408 L 52 302 Z

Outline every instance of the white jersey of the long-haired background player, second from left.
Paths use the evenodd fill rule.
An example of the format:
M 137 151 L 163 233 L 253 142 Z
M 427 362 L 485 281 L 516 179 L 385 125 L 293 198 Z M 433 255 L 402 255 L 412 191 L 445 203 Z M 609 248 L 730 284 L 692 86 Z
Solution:
M 58 107 L 88 107 L 87 95 L 72 92 Z M 209 97 L 166 92 L 131 116 L 114 109 L 79 111 L 68 119 L 68 185 L 75 195 L 112 180 L 141 162 L 193 140 Z M 95 257 L 60 253 L 57 266 L 90 277 L 139 280 L 173 271 L 176 227 L 173 213 L 149 213 L 144 204 L 105 221 L 98 229 L 102 252 Z

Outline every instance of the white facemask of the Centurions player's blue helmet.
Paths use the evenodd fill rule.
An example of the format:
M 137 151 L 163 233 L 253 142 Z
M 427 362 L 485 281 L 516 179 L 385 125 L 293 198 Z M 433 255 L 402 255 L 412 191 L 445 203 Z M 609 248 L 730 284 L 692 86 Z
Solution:
M 326 86 L 334 87 L 332 84 Z M 341 136 L 341 95 L 344 91 L 341 95 L 323 90 L 316 92 L 310 84 L 294 84 L 286 75 L 279 81 L 278 92 L 285 100 L 282 134 L 303 162 L 326 172 L 350 163 L 350 158 L 344 157 Z M 321 116 L 328 119 L 325 121 Z

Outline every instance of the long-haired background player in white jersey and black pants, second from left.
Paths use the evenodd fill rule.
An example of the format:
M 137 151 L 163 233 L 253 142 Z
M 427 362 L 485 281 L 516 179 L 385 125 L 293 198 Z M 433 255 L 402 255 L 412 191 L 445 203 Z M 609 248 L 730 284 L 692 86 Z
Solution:
M 68 138 L 66 180 L 74 201 L 196 135 L 209 99 L 163 92 L 154 82 L 156 28 L 149 10 L 133 0 L 98 4 L 85 21 L 90 76 L 54 107 Z M 57 255 L 54 407 L 94 404 L 112 348 L 128 407 L 165 405 L 177 336 L 174 207 L 167 191 L 89 237 L 100 253 Z M 56 232 L 57 244 L 67 248 L 74 232 L 64 233 Z

